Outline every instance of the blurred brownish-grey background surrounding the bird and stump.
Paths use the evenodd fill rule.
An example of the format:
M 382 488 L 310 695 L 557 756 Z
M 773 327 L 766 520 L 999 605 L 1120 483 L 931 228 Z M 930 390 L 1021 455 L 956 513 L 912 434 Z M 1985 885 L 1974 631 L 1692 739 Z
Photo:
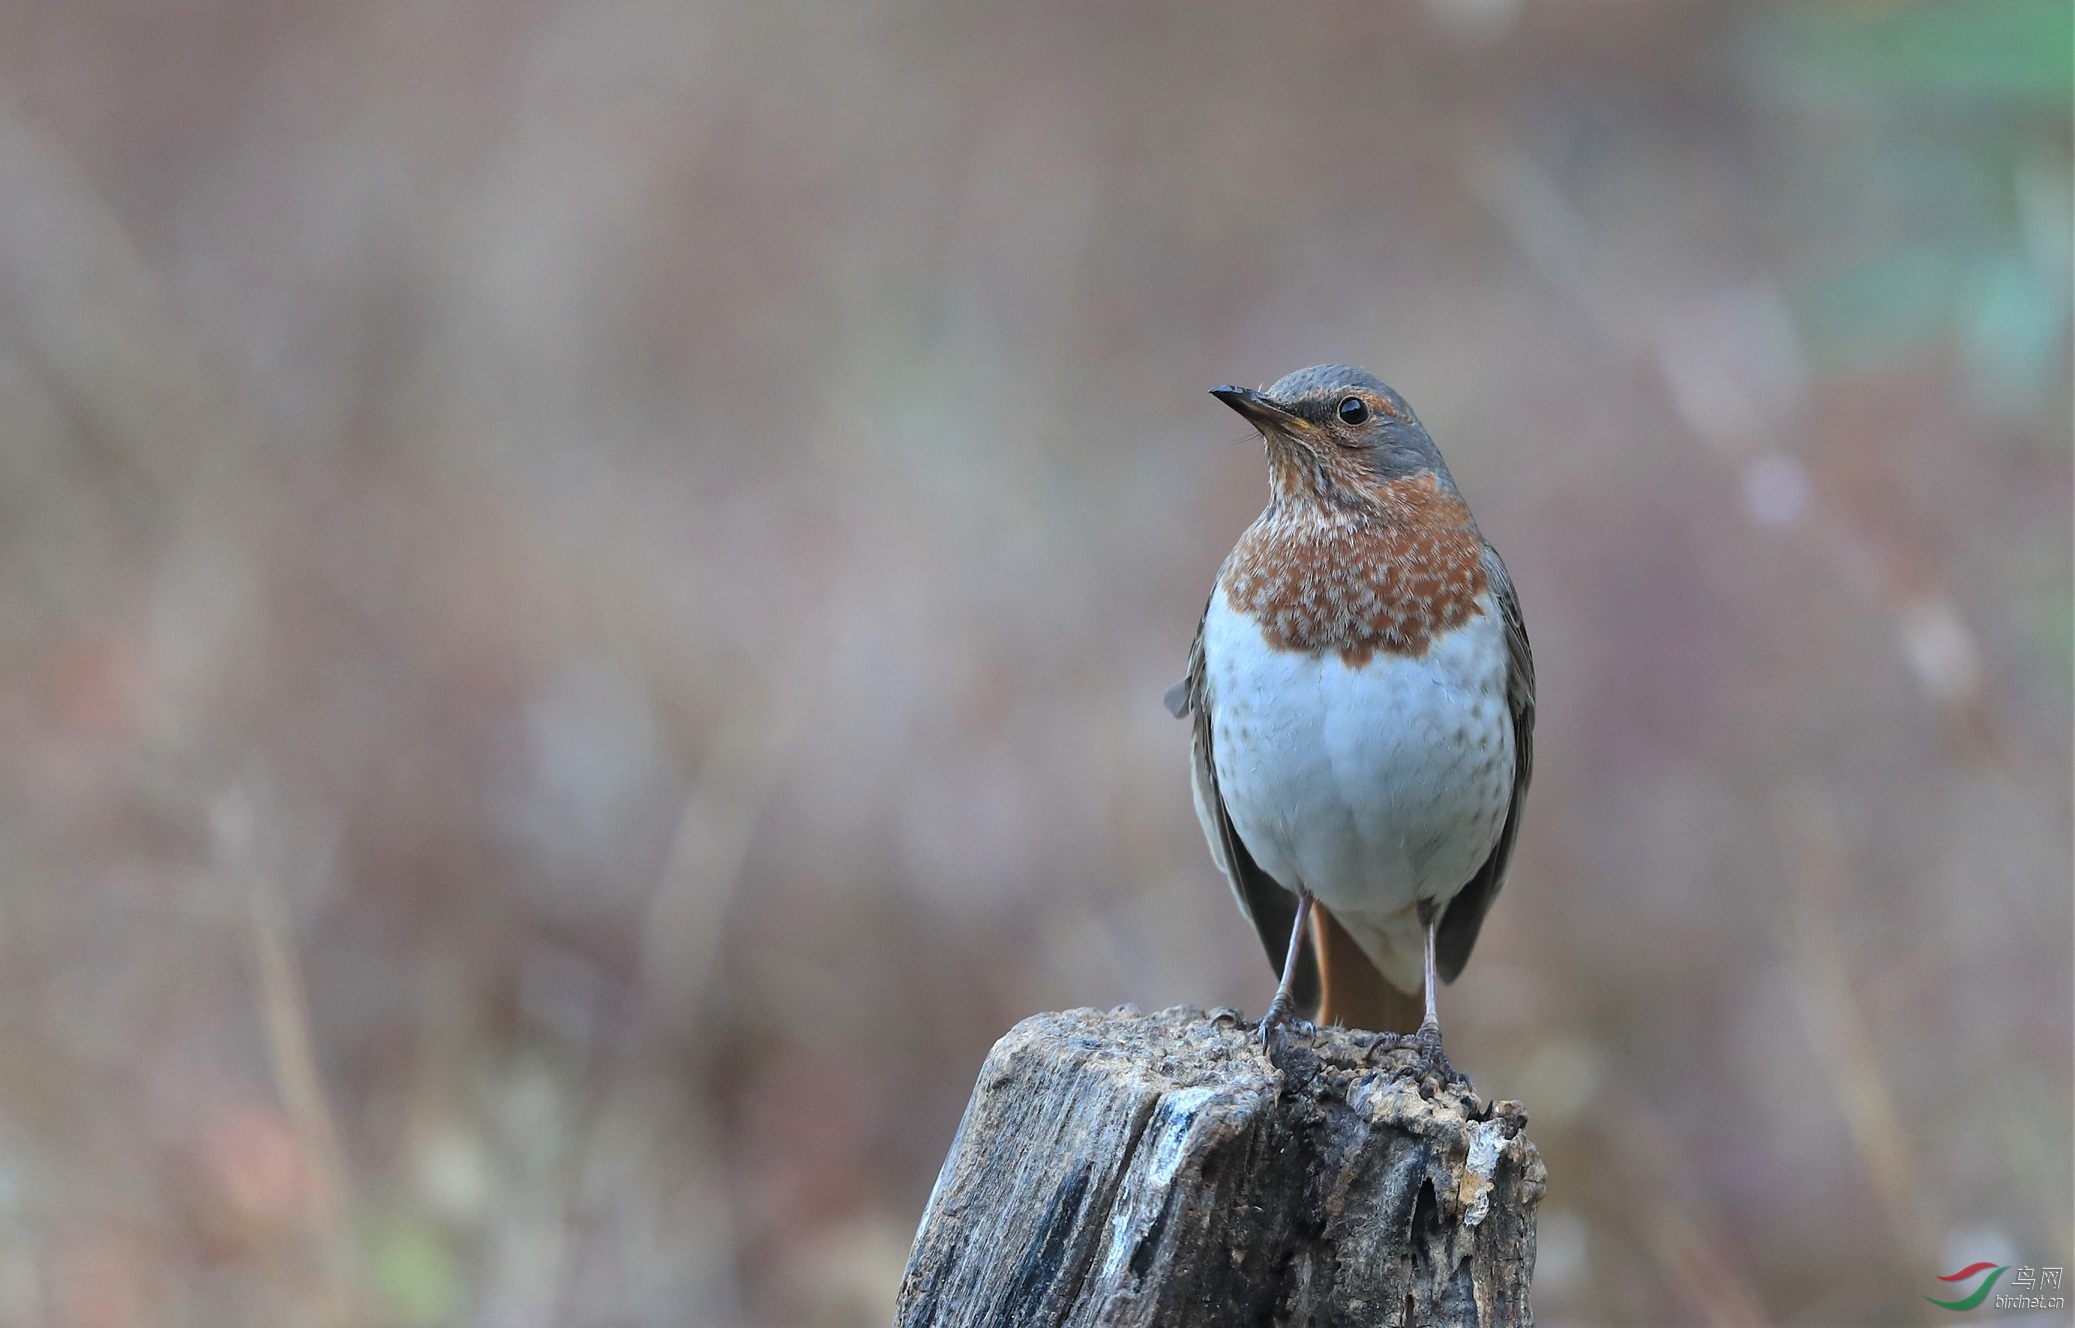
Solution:
M 1270 971 L 1160 708 L 1401 388 L 1544 1324 L 2071 1266 L 2069 6 L 0 4 L 0 1322 L 884 1324 L 994 1038 Z M 2058 1320 L 2058 1316 L 2048 1316 Z

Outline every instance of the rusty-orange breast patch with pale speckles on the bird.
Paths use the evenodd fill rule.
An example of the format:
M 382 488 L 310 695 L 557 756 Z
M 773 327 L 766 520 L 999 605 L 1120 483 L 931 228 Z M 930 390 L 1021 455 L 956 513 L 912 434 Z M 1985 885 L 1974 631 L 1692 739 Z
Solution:
M 1484 540 L 1455 492 L 1432 471 L 1328 492 L 1336 479 L 1278 494 L 1224 564 L 1226 598 L 1270 645 L 1359 668 L 1376 652 L 1423 656 L 1482 612 Z

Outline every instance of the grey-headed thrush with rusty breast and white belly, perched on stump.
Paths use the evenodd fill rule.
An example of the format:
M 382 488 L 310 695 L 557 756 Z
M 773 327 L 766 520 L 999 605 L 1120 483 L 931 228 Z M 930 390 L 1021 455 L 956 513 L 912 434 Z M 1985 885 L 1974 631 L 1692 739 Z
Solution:
M 1276 969 L 1260 1035 L 1411 1033 L 1453 1075 L 1436 977 L 1469 961 L 1533 772 L 1513 577 L 1372 374 L 1313 365 L 1212 396 L 1260 430 L 1270 498 L 1166 706 L 1193 720 L 1197 820 Z

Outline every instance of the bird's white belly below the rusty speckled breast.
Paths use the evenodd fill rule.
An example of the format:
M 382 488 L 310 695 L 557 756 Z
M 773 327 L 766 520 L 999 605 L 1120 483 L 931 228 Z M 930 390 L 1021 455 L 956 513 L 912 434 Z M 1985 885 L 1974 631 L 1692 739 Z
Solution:
M 1488 600 L 1488 598 L 1486 598 Z M 1309 890 L 1386 977 L 1419 988 L 1417 901 L 1490 857 L 1513 799 L 1496 608 L 1419 658 L 1272 649 L 1220 589 L 1204 618 L 1218 791 L 1253 861 Z

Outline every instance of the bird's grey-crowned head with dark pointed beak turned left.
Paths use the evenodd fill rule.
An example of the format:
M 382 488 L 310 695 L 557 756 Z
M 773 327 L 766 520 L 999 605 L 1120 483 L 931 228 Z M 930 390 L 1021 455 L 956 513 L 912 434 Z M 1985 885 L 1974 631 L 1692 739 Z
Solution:
M 1222 386 L 1210 394 L 1262 432 L 1278 500 L 1361 494 L 1428 471 L 1455 488 L 1413 409 L 1363 369 L 1311 365 L 1266 390 Z

